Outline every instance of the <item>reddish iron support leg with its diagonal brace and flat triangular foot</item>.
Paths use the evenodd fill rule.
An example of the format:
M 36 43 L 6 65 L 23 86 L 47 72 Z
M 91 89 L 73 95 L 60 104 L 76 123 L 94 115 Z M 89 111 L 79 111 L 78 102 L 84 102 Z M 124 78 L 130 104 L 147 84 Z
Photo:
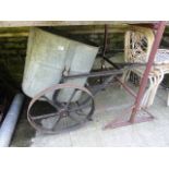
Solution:
M 148 62 L 146 64 L 145 72 L 144 72 L 143 77 L 141 80 L 141 86 L 140 86 L 137 95 L 135 95 L 135 93 L 129 86 L 126 86 L 120 80 L 118 80 L 120 82 L 120 84 L 132 96 L 135 97 L 135 102 L 134 102 L 134 106 L 132 108 L 132 112 L 131 112 L 130 119 L 129 120 L 114 120 L 114 121 L 111 121 L 108 124 L 106 124 L 104 129 L 114 129 L 114 128 L 131 125 L 133 123 L 146 122 L 146 121 L 149 121 L 149 120 L 154 119 L 154 117 L 146 109 L 141 107 L 141 101 L 142 101 L 142 98 L 143 98 L 143 95 L 144 95 L 144 92 L 145 92 L 145 88 L 146 88 L 146 85 L 147 85 L 147 82 L 148 82 L 148 74 L 149 74 L 152 65 L 154 63 L 156 51 L 157 51 L 157 49 L 159 47 L 159 44 L 160 44 L 160 40 L 162 38 L 162 34 L 164 34 L 165 27 L 166 27 L 166 22 L 165 21 L 160 21 L 154 27 L 154 29 L 156 29 L 155 41 L 154 41 L 153 47 L 152 47 L 152 51 L 150 51 L 150 55 L 149 55 Z M 145 112 L 147 112 L 149 114 L 149 117 L 137 118 L 136 114 L 138 113 L 138 111 L 141 109 L 144 110 Z

